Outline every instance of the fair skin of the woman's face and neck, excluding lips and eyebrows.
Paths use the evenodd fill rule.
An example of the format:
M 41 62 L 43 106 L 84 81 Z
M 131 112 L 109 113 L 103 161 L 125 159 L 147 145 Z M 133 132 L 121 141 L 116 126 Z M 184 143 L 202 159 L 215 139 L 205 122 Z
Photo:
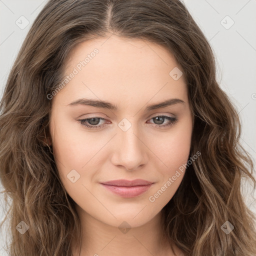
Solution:
M 72 241 L 72 254 L 174 255 L 162 235 L 161 209 L 174 195 L 184 172 L 153 202 L 148 198 L 189 157 L 193 117 L 184 77 L 174 80 L 169 75 L 179 66 L 162 46 L 116 35 L 77 44 L 67 59 L 65 75 L 94 48 L 99 52 L 52 98 L 50 113 L 48 144 L 52 144 L 61 182 L 76 202 L 82 229 L 81 252 Z M 69 105 L 80 98 L 104 100 L 117 109 Z M 184 102 L 146 109 L 170 98 Z M 160 127 L 171 123 L 153 118 L 162 115 L 178 120 Z M 102 127 L 90 129 L 79 121 L 93 116 L 104 120 L 84 123 Z M 124 131 L 119 123 L 131 126 Z M 72 169 L 80 175 L 75 182 L 67 178 Z M 154 183 L 144 193 L 127 198 L 100 184 L 137 178 Z M 118 228 L 123 221 L 131 227 L 126 232 Z

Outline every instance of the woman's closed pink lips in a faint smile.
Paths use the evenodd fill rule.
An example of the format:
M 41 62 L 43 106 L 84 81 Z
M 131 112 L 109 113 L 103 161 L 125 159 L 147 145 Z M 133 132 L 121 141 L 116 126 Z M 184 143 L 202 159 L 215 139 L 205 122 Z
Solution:
M 154 182 L 142 179 L 135 180 L 111 180 L 100 183 L 106 189 L 121 197 L 135 197 L 138 196 L 151 187 Z

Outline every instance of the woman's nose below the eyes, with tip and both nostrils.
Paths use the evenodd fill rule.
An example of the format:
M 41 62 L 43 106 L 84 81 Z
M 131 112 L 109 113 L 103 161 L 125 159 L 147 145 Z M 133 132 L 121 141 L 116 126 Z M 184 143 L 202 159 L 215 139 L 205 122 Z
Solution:
M 147 163 L 146 142 L 133 125 L 126 131 L 118 129 L 113 143 L 115 146 L 111 161 L 117 167 L 132 171 Z

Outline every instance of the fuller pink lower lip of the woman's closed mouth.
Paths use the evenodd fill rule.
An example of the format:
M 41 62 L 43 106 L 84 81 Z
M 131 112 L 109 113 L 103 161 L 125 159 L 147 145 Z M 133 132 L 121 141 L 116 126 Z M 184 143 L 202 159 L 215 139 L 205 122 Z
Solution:
M 153 183 L 152 183 L 153 184 Z M 115 194 L 118 194 L 122 197 L 134 197 L 144 193 L 152 185 L 140 185 L 140 186 L 113 186 L 102 184 L 105 188 L 109 189 Z

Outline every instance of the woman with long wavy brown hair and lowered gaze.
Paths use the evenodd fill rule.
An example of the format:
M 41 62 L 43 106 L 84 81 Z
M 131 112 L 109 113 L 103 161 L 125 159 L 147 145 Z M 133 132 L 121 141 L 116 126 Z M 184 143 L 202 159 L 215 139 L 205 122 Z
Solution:
M 10 255 L 255 255 L 215 72 L 178 0 L 49 0 L 1 100 Z

